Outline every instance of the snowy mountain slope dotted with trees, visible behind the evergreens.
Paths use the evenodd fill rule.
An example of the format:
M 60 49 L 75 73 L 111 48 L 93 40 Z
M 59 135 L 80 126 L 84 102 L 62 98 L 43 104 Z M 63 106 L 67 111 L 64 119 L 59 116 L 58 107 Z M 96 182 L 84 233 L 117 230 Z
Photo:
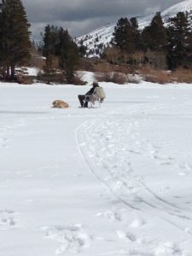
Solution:
M 164 22 L 166 23 L 166 20 L 169 17 L 176 15 L 179 11 L 192 12 L 192 0 L 185 0 L 181 3 L 174 4 L 170 8 L 162 11 L 161 15 L 164 19 Z M 153 17 L 154 14 L 144 17 L 137 17 L 139 27 L 143 29 L 144 26 L 148 26 Z M 84 46 L 88 47 L 87 54 L 89 57 L 99 56 L 103 47 L 110 44 L 113 37 L 114 26 L 116 26 L 116 22 L 108 24 L 107 26 L 102 26 L 93 32 L 77 38 L 76 42 L 78 44 L 83 42 Z

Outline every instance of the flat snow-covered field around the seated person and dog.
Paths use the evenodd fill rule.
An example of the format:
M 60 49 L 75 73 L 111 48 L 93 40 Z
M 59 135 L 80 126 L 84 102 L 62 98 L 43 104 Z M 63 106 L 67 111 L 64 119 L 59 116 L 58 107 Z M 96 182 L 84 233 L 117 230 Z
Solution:
M 192 255 L 192 85 L 102 86 L 0 84 L 1 256 Z

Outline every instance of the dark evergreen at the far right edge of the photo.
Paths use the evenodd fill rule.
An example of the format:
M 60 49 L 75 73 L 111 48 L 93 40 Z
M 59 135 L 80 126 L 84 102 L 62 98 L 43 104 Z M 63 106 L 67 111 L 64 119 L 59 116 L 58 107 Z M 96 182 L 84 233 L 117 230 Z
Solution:
M 168 26 L 168 64 L 170 68 L 192 64 L 192 31 L 187 13 L 179 12 Z

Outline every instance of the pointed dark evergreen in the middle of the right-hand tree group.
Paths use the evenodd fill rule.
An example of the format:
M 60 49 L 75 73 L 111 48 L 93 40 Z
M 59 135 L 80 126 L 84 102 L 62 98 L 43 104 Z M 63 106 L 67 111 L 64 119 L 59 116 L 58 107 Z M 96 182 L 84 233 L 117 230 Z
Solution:
M 160 12 L 154 15 L 149 26 L 146 26 L 142 32 L 143 49 L 162 51 L 165 50 L 168 44 L 167 30 L 163 25 Z

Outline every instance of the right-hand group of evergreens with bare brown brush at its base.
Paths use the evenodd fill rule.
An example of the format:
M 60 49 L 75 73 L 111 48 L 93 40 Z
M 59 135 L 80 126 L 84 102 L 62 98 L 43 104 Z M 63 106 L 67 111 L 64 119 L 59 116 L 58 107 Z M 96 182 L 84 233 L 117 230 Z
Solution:
M 114 27 L 112 47 L 105 49 L 102 56 L 130 65 L 192 67 L 191 23 L 187 12 L 178 12 L 165 26 L 158 12 L 148 26 L 139 30 L 137 18 L 121 18 Z

